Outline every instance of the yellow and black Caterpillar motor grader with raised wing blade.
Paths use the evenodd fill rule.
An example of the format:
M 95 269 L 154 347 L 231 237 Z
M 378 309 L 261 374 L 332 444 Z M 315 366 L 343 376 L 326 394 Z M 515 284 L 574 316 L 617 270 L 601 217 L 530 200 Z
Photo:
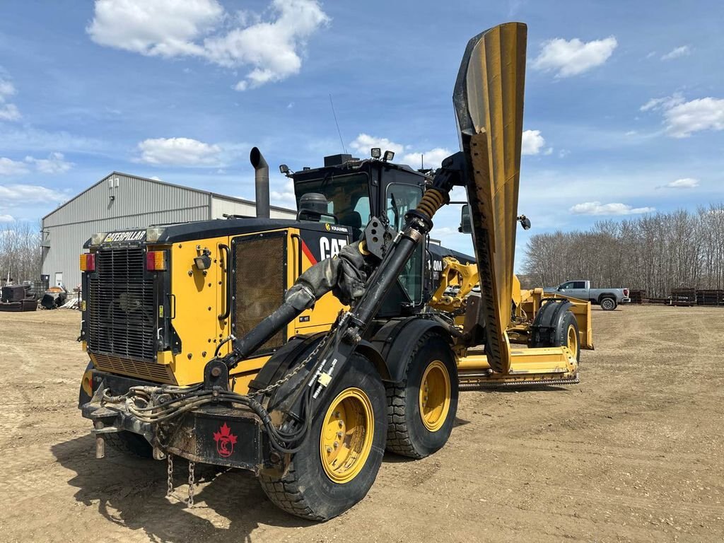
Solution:
M 282 167 L 298 220 L 262 205 L 257 218 L 89 240 L 79 406 L 96 456 L 109 443 L 169 468 L 182 457 L 191 481 L 195 463 L 243 468 L 283 510 L 324 521 L 366 495 L 385 450 L 445 445 L 461 387 L 578 382 L 581 304 L 521 297 L 513 275 L 525 49 L 521 23 L 468 43 L 461 150 L 434 174 L 379 152 L 330 157 Z M 263 192 L 266 162 L 256 148 L 251 159 Z M 479 292 L 429 245 L 456 186 L 475 258 L 447 254 L 474 266 Z

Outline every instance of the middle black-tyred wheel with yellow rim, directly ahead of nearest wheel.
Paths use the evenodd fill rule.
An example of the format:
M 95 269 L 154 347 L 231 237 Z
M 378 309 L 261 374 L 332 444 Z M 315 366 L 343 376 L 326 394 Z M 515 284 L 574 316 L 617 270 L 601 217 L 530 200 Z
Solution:
M 434 332 L 417 343 L 400 384 L 387 386 L 387 450 L 424 458 L 447 442 L 458 412 L 458 366 Z

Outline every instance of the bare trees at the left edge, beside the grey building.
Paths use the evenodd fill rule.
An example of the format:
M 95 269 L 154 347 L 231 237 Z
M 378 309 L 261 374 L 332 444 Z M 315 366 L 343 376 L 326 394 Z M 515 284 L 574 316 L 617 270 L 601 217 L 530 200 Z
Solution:
M 38 280 L 41 273 L 41 235 L 36 224 L 14 222 L 0 230 L 0 282 Z

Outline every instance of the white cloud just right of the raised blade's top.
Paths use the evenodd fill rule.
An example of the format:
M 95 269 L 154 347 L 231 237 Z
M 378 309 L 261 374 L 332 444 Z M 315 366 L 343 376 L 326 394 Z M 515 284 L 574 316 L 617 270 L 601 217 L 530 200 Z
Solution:
M 533 67 L 544 72 L 554 71 L 556 77 L 578 75 L 606 62 L 616 46 L 618 42 L 613 35 L 588 42 L 554 38 L 543 43 Z

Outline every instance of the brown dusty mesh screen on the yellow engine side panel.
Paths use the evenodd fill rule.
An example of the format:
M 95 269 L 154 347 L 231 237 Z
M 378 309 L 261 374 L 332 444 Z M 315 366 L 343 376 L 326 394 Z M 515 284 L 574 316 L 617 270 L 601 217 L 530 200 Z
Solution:
M 244 337 L 284 301 L 287 267 L 286 232 L 236 237 L 234 245 L 234 329 Z M 285 329 L 254 354 L 270 353 L 285 341 Z

